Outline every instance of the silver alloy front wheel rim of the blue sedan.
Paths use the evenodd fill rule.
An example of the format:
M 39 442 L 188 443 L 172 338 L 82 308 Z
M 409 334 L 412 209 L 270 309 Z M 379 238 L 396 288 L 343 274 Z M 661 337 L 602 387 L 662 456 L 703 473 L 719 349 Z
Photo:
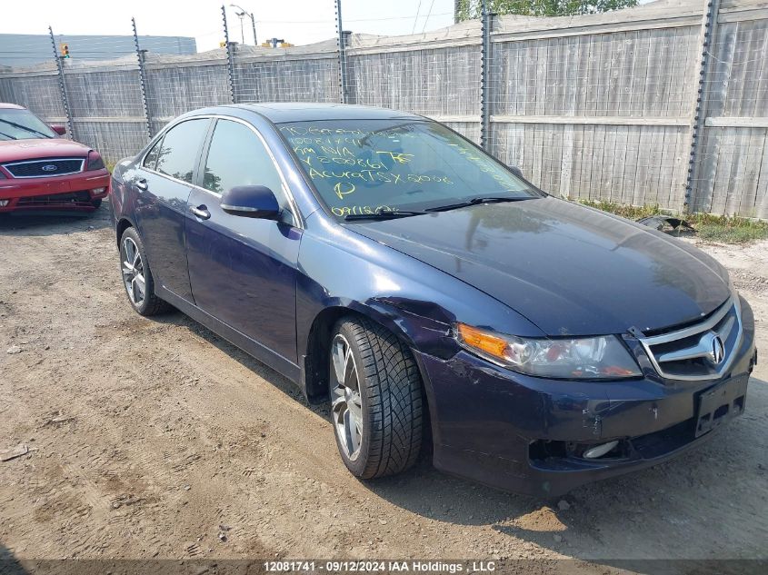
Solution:
M 354 461 L 363 444 L 363 403 L 352 347 L 341 333 L 336 334 L 331 344 L 331 361 L 331 411 L 336 437 L 346 456 Z

